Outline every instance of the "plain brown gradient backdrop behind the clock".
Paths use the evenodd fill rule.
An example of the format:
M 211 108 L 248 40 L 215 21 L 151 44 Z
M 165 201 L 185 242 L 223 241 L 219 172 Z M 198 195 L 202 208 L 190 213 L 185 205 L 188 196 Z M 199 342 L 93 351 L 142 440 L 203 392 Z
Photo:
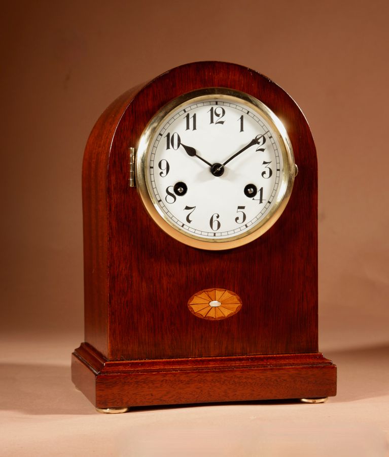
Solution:
M 185 62 L 225 60 L 287 90 L 315 138 L 321 348 L 387 344 L 386 0 L 20 1 L 2 10 L 4 331 L 72 331 L 78 345 L 90 129 L 128 88 Z

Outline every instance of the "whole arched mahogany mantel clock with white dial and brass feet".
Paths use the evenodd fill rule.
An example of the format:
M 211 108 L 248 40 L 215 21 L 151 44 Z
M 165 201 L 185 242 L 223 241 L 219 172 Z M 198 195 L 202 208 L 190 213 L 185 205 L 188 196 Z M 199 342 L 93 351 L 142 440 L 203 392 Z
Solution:
M 268 78 L 196 62 L 124 93 L 89 137 L 83 216 L 72 376 L 99 411 L 336 394 L 315 147 Z

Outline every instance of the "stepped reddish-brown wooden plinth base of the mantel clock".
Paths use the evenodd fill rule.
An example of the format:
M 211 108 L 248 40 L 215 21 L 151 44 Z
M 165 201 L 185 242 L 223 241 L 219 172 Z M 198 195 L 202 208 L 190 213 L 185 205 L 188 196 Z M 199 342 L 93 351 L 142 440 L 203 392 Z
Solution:
M 107 361 L 82 343 L 72 379 L 96 408 L 336 395 L 336 366 L 321 353 Z

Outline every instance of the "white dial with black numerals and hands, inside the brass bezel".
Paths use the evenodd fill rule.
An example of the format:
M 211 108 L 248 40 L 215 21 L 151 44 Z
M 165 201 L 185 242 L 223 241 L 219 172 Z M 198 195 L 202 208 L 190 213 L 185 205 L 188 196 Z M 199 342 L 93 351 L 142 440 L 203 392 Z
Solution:
M 218 111 L 210 110 L 212 106 L 219 107 Z M 242 121 L 236 122 L 240 118 Z M 195 128 L 192 119 L 196 120 Z M 243 122 L 244 130 L 240 131 Z M 257 231 L 278 205 L 284 179 L 280 177 L 285 175 L 284 153 L 280 153 L 284 146 L 280 146 L 274 124 L 268 122 L 260 111 L 231 95 L 199 97 L 170 111 L 153 134 L 147 161 L 149 165 L 162 164 L 158 173 L 149 168 L 148 180 L 158 213 L 166 223 L 204 242 L 229 242 Z M 231 154 L 231 150 L 236 152 Z M 174 200 L 170 194 L 177 182 L 185 182 L 188 190 Z M 243 192 L 247 183 L 261 189 L 259 197 L 247 199 L 249 195 Z M 242 206 L 244 213 L 237 213 Z M 184 208 L 193 207 L 188 225 L 185 218 L 189 210 Z M 216 213 L 218 218 L 212 219 Z M 210 219 L 213 230 L 209 230 Z

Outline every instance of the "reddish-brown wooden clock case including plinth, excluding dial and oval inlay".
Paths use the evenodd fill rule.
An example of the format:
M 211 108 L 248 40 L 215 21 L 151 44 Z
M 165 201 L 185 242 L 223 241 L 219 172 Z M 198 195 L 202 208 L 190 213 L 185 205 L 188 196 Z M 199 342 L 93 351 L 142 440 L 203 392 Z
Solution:
M 169 237 L 129 186 L 129 148 L 181 94 L 224 87 L 256 97 L 284 123 L 298 176 L 278 221 L 226 251 Z M 336 366 L 317 343 L 317 162 L 309 126 L 267 77 L 224 62 L 174 68 L 121 95 L 95 124 L 83 163 L 85 342 L 76 386 L 98 408 L 336 395 Z M 241 299 L 230 318 L 188 309 L 198 291 Z

